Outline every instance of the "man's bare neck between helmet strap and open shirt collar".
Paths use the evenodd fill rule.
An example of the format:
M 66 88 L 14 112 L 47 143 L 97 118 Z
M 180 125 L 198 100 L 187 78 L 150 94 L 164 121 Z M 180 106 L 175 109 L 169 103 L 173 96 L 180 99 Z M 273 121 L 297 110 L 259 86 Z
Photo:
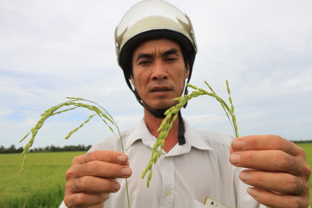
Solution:
M 159 132 L 157 132 L 163 118 L 156 118 L 154 115 L 149 113 L 144 108 L 144 121 L 148 128 L 148 130 L 151 132 L 152 135 L 154 135 L 156 138 L 158 137 Z M 179 122 L 178 119 L 173 123 L 173 126 L 165 140 L 165 144 L 163 147 L 163 150 L 166 152 L 169 152 L 178 142 L 177 140 L 177 134 L 178 134 L 178 126 Z

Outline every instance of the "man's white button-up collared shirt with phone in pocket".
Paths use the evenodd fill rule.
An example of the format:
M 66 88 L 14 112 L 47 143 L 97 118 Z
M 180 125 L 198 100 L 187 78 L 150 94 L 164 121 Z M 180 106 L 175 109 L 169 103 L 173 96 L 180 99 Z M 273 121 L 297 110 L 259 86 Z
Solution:
M 229 147 L 234 137 L 215 131 L 190 127 L 184 120 L 186 144 L 168 153 L 162 151 L 153 165 L 150 187 L 147 175 L 142 180 L 156 138 L 142 119 L 137 128 L 121 132 L 132 176 L 128 179 L 131 208 L 207 208 L 211 198 L 229 208 L 262 208 L 246 191 L 239 179 L 240 168 L 229 162 Z M 89 151 L 121 151 L 115 136 L 98 141 Z M 104 208 L 127 208 L 125 179 L 118 179 L 121 189 L 111 193 Z M 59 208 L 66 208 L 64 203 Z

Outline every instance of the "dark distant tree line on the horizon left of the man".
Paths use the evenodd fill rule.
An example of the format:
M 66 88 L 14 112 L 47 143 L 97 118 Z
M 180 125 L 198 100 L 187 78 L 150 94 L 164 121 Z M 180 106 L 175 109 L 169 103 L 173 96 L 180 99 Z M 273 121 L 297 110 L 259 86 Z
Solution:
M 70 146 L 64 146 L 64 147 L 59 147 L 59 146 L 46 146 L 44 148 L 32 148 L 29 150 L 29 152 L 57 152 L 57 151 L 88 151 L 92 146 L 84 146 L 84 145 L 70 145 Z M 6 154 L 6 153 L 21 153 L 23 152 L 23 148 L 16 148 L 15 145 L 11 145 L 9 148 L 3 147 L 1 145 L 0 147 L 0 154 Z

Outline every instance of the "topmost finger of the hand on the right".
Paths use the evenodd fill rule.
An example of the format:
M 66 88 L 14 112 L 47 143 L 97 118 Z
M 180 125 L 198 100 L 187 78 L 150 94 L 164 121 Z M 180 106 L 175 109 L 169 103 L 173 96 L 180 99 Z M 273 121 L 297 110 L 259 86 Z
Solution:
M 280 150 L 292 156 L 306 157 L 305 151 L 296 144 L 277 135 L 252 135 L 239 137 L 232 141 L 234 151 Z

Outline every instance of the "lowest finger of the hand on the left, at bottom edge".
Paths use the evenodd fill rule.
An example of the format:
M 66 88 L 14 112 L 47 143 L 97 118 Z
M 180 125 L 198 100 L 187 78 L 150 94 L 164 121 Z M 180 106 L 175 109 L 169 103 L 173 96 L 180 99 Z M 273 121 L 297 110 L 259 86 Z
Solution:
M 107 193 L 75 193 L 65 194 L 66 207 L 84 208 L 102 204 L 109 198 Z

